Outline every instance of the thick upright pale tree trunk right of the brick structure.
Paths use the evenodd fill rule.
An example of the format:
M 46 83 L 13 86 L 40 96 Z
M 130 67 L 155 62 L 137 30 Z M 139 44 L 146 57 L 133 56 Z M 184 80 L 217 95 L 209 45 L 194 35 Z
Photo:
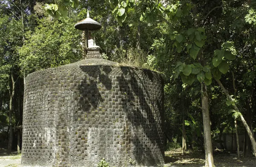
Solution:
M 209 117 L 207 86 L 201 83 L 202 112 L 204 124 L 205 167 L 215 167 L 212 153 L 212 136 Z

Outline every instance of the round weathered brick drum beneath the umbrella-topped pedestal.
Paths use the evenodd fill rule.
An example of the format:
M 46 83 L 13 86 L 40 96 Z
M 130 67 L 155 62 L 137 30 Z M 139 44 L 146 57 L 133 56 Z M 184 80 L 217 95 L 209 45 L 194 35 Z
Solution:
M 23 166 L 163 164 L 163 79 L 88 58 L 26 77 Z

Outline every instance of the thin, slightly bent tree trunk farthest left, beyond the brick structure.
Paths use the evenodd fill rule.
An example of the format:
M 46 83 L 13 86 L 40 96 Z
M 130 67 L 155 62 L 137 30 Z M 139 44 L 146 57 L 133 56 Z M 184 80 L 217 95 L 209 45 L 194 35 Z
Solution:
M 10 154 L 12 151 L 12 140 L 13 140 L 13 129 L 12 129 L 12 100 L 15 94 L 15 81 L 14 81 L 14 69 L 11 69 L 11 77 L 12 77 L 12 94 L 10 93 L 10 104 L 9 104 L 9 141 L 7 153 Z

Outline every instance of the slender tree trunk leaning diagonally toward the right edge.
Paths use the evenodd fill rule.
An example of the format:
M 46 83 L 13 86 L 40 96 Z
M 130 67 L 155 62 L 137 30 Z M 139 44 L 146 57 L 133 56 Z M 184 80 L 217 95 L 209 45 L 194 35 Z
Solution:
M 217 83 L 219 84 L 219 86 L 221 86 L 221 89 L 223 90 L 223 92 L 225 93 L 225 95 L 227 96 L 227 98 L 228 98 L 230 101 L 232 101 L 232 102 L 234 103 L 233 99 L 230 97 L 229 93 L 228 93 L 227 90 L 224 88 L 224 86 L 222 85 L 221 81 L 219 81 L 219 80 L 216 80 L 216 81 L 217 81 Z M 232 106 L 233 106 L 233 108 L 236 110 L 236 112 L 239 112 L 239 109 L 236 107 L 236 104 L 234 104 L 234 105 L 232 105 Z M 253 134 L 252 134 L 252 132 L 251 132 L 251 130 L 250 130 L 250 127 L 248 126 L 247 122 L 244 120 L 243 115 L 239 115 L 239 116 L 240 116 L 241 121 L 242 121 L 242 123 L 243 123 L 243 125 L 244 125 L 244 127 L 245 127 L 245 129 L 246 129 L 246 131 L 247 131 L 247 133 L 248 133 L 248 135 L 249 135 L 249 137 L 250 137 L 250 141 L 251 141 L 251 143 L 252 143 L 252 145 L 253 145 L 254 155 L 255 155 L 255 157 L 256 157 L 256 142 L 255 142 L 255 139 L 254 139 L 254 137 L 253 137 Z

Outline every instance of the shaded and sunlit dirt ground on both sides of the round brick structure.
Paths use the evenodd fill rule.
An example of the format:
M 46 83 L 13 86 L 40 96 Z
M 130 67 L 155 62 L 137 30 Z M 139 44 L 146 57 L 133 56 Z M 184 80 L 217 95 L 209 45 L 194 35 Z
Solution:
M 20 167 L 21 154 L 13 152 L 7 155 L 6 150 L 0 150 L 0 167 Z M 182 155 L 181 149 L 166 151 L 166 164 L 160 167 L 204 167 L 204 153 L 187 151 Z M 216 167 L 256 167 L 256 158 L 241 158 L 237 160 L 236 154 L 225 151 L 214 151 L 214 164 Z

